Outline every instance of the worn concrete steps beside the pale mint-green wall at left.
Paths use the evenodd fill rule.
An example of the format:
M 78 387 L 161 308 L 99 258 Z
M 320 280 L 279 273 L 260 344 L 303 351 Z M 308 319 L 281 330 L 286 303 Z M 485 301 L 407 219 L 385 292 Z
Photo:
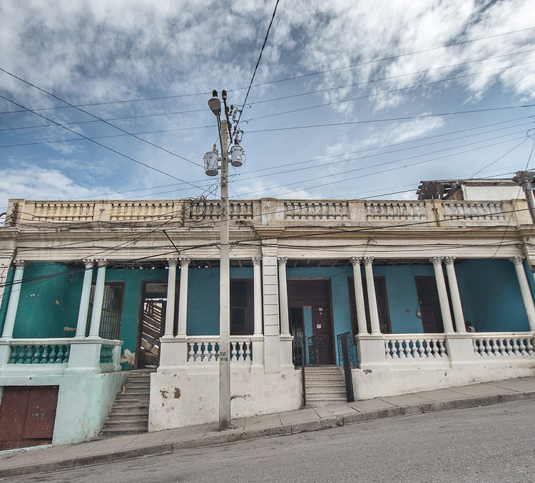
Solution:
M 135 435 L 148 431 L 148 402 L 154 369 L 132 370 L 118 394 L 101 436 Z

